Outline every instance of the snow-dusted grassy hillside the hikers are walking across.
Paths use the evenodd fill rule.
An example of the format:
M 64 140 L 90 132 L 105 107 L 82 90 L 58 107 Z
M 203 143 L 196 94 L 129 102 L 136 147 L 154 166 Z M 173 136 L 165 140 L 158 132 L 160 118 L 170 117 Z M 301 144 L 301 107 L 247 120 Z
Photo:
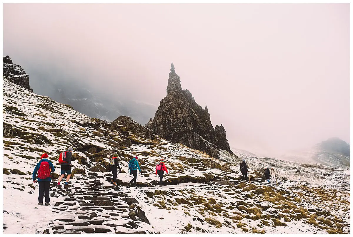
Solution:
M 266 184 L 249 157 L 252 183 L 242 182 L 242 157 L 224 152 L 217 160 L 158 137 L 140 138 L 122 125 L 109 130 L 106 121 L 6 79 L 3 95 L 4 233 L 349 233 L 345 190 L 298 185 L 289 176 L 278 187 Z M 48 153 L 59 174 L 56 157 L 68 146 L 76 151 L 71 187 L 52 187 L 52 205 L 37 206 L 38 186 L 31 181 L 37 158 Z M 115 152 L 119 188 L 105 169 Z M 142 175 L 130 188 L 127 162 L 134 156 Z M 169 171 L 163 188 L 154 170 L 160 158 Z M 53 180 L 55 186 L 58 175 Z

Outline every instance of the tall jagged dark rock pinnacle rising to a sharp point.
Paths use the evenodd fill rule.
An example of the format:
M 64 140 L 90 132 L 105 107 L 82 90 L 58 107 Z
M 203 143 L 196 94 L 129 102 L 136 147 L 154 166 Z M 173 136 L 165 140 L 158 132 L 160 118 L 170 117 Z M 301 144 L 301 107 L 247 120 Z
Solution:
M 231 152 L 226 130 L 222 125 L 216 126 L 215 130 L 207 106 L 203 109 L 189 90 L 181 89 L 180 77 L 175 73 L 173 63 L 167 96 L 161 100 L 154 119 L 150 119 L 146 127 L 168 141 L 205 151 L 213 157 L 218 157 L 218 148 Z

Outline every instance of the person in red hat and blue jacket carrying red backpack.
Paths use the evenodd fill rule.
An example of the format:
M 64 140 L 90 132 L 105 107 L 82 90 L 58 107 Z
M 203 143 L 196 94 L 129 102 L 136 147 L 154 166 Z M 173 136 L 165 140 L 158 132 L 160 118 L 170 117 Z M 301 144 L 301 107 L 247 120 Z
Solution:
M 43 205 L 43 196 L 45 195 L 45 206 L 49 205 L 50 196 L 49 196 L 49 187 L 52 178 L 50 177 L 50 172 L 54 172 L 55 168 L 53 163 L 46 159 L 48 158 L 48 154 L 42 154 L 40 158 L 40 162 L 36 165 L 33 170 L 32 180 L 34 183 L 38 183 L 39 185 L 39 196 L 38 196 L 38 205 Z M 36 175 L 38 172 L 38 180 L 36 180 Z

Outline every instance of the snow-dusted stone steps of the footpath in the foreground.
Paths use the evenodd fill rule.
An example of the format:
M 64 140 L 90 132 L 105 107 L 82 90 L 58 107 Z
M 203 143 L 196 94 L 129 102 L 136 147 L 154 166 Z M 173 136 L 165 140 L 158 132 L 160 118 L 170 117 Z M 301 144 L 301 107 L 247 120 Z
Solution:
M 53 187 L 50 192 L 61 196 L 54 213 L 62 218 L 49 223 L 43 233 L 153 233 L 138 201 L 128 197 L 119 186 L 104 186 L 99 180 L 85 182 L 80 187 Z

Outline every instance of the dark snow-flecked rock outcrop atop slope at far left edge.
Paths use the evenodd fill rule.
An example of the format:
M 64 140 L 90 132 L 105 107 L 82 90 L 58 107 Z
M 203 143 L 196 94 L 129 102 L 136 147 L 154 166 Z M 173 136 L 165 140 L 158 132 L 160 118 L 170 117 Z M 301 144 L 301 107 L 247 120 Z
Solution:
M 33 91 L 29 85 L 29 76 L 21 66 L 13 64 L 11 58 L 8 55 L 2 57 L 2 62 L 3 78 L 6 78 L 12 83 L 22 86 L 30 91 Z

